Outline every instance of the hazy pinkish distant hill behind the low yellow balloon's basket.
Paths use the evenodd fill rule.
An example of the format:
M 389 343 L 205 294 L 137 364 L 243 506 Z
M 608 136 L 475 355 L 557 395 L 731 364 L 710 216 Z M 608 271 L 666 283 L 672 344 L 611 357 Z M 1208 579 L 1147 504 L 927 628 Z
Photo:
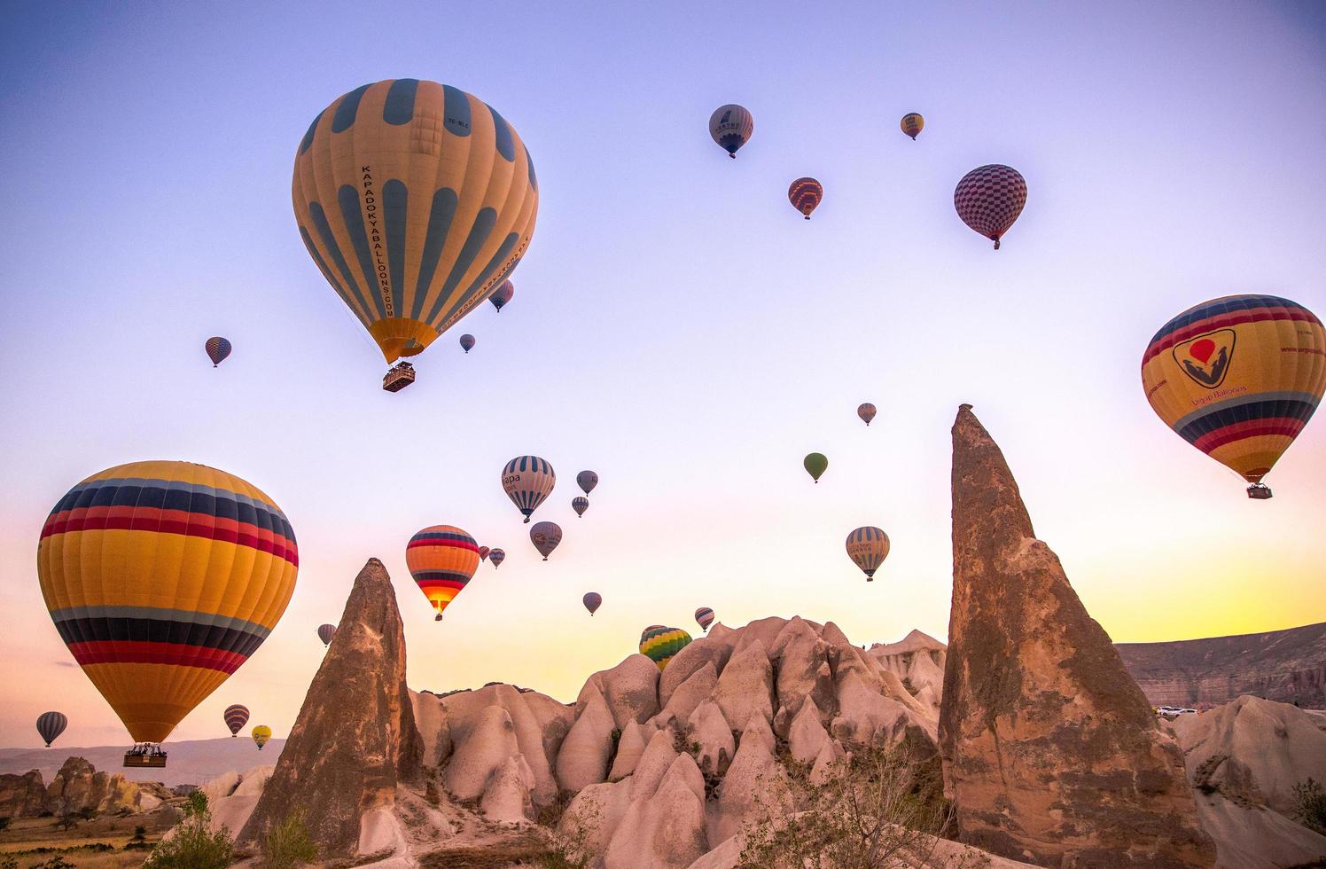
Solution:
M 231 769 L 276 764 L 285 740 L 273 739 L 263 751 L 247 736 L 168 742 L 164 769 L 125 769 L 125 748 L 126 746 L 62 746 L 58 742 L 50 748 L 0 748 L 0 773 L 40 769 L 42 780 L 50 784 L 65 759 L 78 756 L 86 758 L 99 771 L 122 772 L 131 781 L 162 781 L 166 787 L 203 784 Z

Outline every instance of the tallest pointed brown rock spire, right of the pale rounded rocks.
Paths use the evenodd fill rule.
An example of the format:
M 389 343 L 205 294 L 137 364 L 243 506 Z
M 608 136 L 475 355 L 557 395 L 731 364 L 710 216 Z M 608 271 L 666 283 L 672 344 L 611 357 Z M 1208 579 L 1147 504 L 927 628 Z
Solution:
M 1045 866 L 1209 866 L 1183 755 L 1036 539 L 963 405 L 953 423 L 953 604 L 940 710 L 964 841 Z

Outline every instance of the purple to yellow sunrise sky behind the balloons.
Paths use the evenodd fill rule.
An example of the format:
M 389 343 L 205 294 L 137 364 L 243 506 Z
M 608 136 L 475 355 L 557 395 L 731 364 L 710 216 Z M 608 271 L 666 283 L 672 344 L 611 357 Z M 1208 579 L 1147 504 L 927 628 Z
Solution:
M 224 735 L 236 702 L 284 736 L 314 629 L 371 556 L 416 690 L 572 701 L 644 626 L 697 633 L 701 605 L 944 638 L 961 402 L 1115 641 L 1326 620 L 1326 422 L 1250 501 L 1138 374 L 1207 299 L 1326 314 L 1326 13 L 912 5 L 7 4 L 0 746 L 40 744 L 48 708 L 64 746 L 129 739 L 56 634 L 34 555 L 66 490 L 141 459 L 237 474 L 300 547 L 280 625 L 174 739 Z M 514 300 L 392 395 L 300 241 L 290 172 L 324 106 L 398 77 L 495 106 L 538 166 L 540 214 Z M 707 131 L 727 102 L 754 115 L 736 161 Z M 1029 187 L 998 252 L 952 207 L 984 163 Z M 786 202 L 802 175 L 825 187 L 810 222 Z M 235 345 L 219 369 L 212 334 Z M 522 454 L 558 474 L 546 563 L 500 484 Z M 577 519 L 583 468 L 601 483 Z M 404 567 L 432 524 L 508 553 L 440 624 Z M 869 584 L 843 552 L 858 525 L 892 540 Z

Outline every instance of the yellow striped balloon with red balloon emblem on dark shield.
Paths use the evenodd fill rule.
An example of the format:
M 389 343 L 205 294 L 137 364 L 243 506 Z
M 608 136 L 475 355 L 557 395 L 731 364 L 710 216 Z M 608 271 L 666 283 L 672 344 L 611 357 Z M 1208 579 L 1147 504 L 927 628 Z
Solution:
M 1151 409 L 1179 436 L 1270 498 L 1261 479 L 1326 391 L 1326 332 L 1298 302 L 1225 296 L 1164 324 L 1142 356 Z

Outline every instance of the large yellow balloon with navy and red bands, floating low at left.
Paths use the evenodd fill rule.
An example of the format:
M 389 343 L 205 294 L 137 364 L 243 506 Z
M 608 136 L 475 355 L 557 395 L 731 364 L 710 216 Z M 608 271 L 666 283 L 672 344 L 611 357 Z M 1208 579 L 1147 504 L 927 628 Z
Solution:
M 37 574 L 56 630 L 137 743 L 159 743 L 276 628 L 298 572 L 285 515 L 237 476 L 187 462 L 107 468 L 60 499 Z

